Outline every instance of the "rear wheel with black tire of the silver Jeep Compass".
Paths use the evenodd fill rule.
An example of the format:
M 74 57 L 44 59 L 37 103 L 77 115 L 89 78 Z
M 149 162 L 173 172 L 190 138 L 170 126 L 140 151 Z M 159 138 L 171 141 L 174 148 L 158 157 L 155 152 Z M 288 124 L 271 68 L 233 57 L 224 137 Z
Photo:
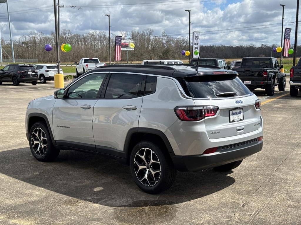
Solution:
M 141 141 L 135 145 L 130 156 L 130 169 L 137 186 L 147 193 L 159 193 L 167 190 L 177 174 L 166 149 L 150 141 Z M 145 159 L 145 160 L 144 160 Z M 150 161 L 153 160 L 150 164 Z M 139 169 L 139 166 L 142 167 Z M 146 178 L 143 178 L 145 174 Z

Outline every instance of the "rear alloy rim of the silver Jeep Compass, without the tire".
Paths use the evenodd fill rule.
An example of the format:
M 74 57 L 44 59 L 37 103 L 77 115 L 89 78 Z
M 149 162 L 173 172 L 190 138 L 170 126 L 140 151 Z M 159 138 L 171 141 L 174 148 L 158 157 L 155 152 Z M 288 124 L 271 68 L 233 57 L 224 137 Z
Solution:
M 151 187 L 158 183 L 161 164 L 158 156 L 149 148 L 140 149 L 134 158 L 134 171 L 141 184 Z

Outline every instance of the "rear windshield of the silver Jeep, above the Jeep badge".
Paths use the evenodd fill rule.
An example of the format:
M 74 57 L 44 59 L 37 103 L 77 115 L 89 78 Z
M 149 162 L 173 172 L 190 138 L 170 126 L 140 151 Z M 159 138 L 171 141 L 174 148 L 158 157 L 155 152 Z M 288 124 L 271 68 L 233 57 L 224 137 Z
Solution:
M 241 82 L 241 80 L 233 74 L 229 75 L 211 75 L 211 76 L 194 76 L 184 79 L 183 87 L 186 94 L 195 98 L 225 98 L 229 96 L 216 96 L 225 92 L 234 92 L 235 95 L 230 97 L 238 97 L 249 95 L 252 92 Z

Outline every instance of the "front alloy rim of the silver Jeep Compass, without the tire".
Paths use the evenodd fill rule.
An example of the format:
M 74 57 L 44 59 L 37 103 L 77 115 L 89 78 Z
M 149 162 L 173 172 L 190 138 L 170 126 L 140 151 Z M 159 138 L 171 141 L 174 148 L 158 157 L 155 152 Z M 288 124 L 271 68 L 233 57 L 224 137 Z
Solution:
M 31 134 L 31 146 L 37 156 L 44 156 L 47 151 L 47 137 L 42 128 L 35 128 Z

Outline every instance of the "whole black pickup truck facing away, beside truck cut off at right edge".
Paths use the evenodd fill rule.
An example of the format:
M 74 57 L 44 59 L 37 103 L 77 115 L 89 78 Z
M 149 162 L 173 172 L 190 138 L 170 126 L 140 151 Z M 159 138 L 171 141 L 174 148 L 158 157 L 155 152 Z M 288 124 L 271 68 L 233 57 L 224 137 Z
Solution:
M 285 73 L 280 72 L 282 68 L 277 58 L 246 57 L 242 58 L 240 68 L 233 70 L 251 91 L 262 88 L 267 95 L 272 96 L 275 86 L 278 86 L 279 91 L 285 90 Z

